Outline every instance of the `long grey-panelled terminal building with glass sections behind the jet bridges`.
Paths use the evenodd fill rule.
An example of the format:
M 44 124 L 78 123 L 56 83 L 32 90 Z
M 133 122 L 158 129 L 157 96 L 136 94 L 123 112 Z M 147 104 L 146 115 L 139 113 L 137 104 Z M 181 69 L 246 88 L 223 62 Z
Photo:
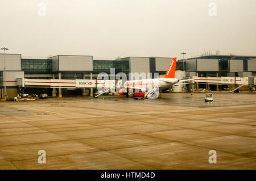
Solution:
M 97 79 L 98 73 L 166 73 L 171 57 L 125 57 L 117 60 L 94 60 L 93 56 L 57 55 L 47 59 L 22 58 L 21 54 L 0 54 L 0 98 L 4 98 L 4 87 L 7 95 L 13 99 L 17 95 L 17 78 L 29 79 Z M 6 70 L 5 70 L 6 68 Z M 187 77 L 255 77 L 256 56 L 200 56 L 185 60 Z M 183 60 L 177 61 L 176 71 L 182 76 Z M 179 76 L 180 76 L 179 75 Z M 149 78 L 149 77 L 148 77 Z M 179 77 L 180 78 L 180 77 Z M 61 91 L 62 90 L 62 91 Z M 89 89 L 54 89 L 46 87 L 26 87 L 25 92 L 48 95 L 88 95 Z

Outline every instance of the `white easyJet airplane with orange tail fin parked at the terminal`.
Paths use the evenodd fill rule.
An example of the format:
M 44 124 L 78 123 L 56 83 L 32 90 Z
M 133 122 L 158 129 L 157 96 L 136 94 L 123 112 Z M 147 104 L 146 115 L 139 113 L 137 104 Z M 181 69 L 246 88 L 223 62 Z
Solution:
M 140 91 L 144 91 L 145 88 L 148 88 L 148 91 L 144 91 L 144 98 L 158 98 L 158 92 L 164 89 L 168 89 L 172 85 L 176 85 L 178 82 L 190 81 L 191 79 L 180 80 L 175 78 L 175 69 L 176 69 L 176 60 L 177 57 L 172 58 L 169 68 L 166 71 L 166 74 L 163 78 L 154 78 L 154 79 L 141 79 L 134 81 L 126 81 L 123 86 L 117 87 L 119 89 L 119 95 L 129 96 L 129 89 L 134 90 L 134 95 L 138 94 Z M 183 83 L 187 84 L 187 83 Z M 100 96 L 104 94 L 104 92 L 108 92 L 110 88 L 106 87 L 105 91 L 97 92 L 94 97 Z M 144 90 L 143 90 L 144 89 Z M 152 96 L 156 93 L 155 96 Z

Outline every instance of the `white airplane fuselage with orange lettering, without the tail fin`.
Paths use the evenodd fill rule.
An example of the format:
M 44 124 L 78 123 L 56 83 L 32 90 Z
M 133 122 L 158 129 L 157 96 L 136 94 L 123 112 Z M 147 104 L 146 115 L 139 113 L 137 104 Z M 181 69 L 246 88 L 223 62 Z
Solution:
M 167 89 L 180 80 L 177 78 L 155 78 L 155 79 L 142 79 L 135 81 L 126 81 L 124 88 L 126 89 L 147 89 L 151 87 L 158 87 L 159 90 Z

